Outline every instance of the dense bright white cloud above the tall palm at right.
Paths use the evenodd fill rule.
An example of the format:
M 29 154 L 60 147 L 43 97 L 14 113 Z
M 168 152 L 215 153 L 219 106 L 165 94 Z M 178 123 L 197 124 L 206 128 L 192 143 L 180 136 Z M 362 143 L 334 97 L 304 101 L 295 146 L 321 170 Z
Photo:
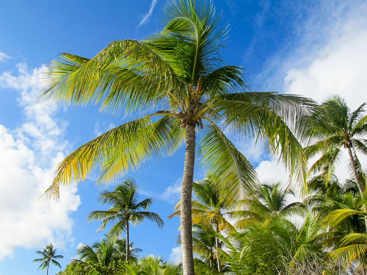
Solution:
M 319 103 L 339 94 L 356 109 L 367 101 L 366 45 L 367 24 L 360 30 L 345 27 L 340 36 L 320 49 L 318 58 L 287 72 L 286 92 L 303 94 Z

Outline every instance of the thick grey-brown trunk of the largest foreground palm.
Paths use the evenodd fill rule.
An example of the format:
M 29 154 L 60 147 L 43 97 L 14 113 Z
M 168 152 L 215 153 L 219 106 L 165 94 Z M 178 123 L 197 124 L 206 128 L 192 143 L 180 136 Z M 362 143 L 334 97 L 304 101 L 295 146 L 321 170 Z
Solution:
M 194 275 L 194 258 L 192 255 L 192 221 L 191 221 L 191 194 L 195 164 L 195 126 L 186 125 L 186 151 L 184 176 L 181 186 L 181 243 L 183 275 Z

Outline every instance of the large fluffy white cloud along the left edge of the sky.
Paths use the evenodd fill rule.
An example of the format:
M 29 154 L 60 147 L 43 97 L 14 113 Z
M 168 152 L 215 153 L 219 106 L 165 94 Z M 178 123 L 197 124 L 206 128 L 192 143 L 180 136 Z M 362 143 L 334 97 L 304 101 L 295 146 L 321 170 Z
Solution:
M 68 148 L 63 136 L 66 123 L 53 117 L 55 106 L 35 101 L 38 75 L 44 68 L 29 70 L 21 63 L 17 69 L 16 74 L 0 74 L 0 87 L 19 92 L 25 116 L 17 128 L 0 125 L 0 208 L 4 210 L 0 212 L 0 259 L 12 256 L 17 246 L 40 247 L 52 242 L 65 248 L 72 242 L 70 213 L 80 205 L 75 185 L 61 190 L 60 203 L 46 204 L 39 199 Z

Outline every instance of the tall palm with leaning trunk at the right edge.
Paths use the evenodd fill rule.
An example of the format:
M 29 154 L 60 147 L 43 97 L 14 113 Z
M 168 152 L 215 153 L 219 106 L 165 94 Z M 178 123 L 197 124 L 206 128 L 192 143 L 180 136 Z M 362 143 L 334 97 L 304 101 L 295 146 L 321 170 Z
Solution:
M 334 95 L 326 100 L 319 109 L 315 110 L 314 117 L 318 117 L 318 132 L 320 140 L 305 148 L 308 158 L 321 153 L 321 157 L 311 167 L 310 172 L 321 171 L 325 184 L 328 183 L 337 164 L 340 161 L 342 148 L 348 151 L 349 167 L 354 181 L 364 201 L 366 190 L 366 176 L 363 173 L 357 152 L 367 154 L 367 115 L 366 103 L 351 111 L 343 98 Z M 361 182 L 362 179 L 362 182 Z M 363 204 L 364 212 L 366 204 Z M 365 217 L 367 228 L 367 216 Z

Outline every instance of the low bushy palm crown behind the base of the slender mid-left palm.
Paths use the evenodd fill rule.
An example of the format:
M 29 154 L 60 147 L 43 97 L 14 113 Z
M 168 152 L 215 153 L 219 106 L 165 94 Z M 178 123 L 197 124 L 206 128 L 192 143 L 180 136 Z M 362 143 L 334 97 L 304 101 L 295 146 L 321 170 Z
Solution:
M 77 266 L 78 263 L 85 264 L 86 270 L 89 269 L 89 263 L 100 263 L 102 266 L 108 267 L 113 261 L 126 259 L 126 240 L 125 239 L 111 239 L 109 237 L 102 238 L 101 241 L 97 241 L 92 246 L 83 244 L 78 248 L 76 254 L 79 259 L 72 259 L 71 266 Z M 137 262 L 137 254 L 142 250 L 139 248 L 133 248 L 133 243 L 129 244 L 129 259 L 133 262 Z

